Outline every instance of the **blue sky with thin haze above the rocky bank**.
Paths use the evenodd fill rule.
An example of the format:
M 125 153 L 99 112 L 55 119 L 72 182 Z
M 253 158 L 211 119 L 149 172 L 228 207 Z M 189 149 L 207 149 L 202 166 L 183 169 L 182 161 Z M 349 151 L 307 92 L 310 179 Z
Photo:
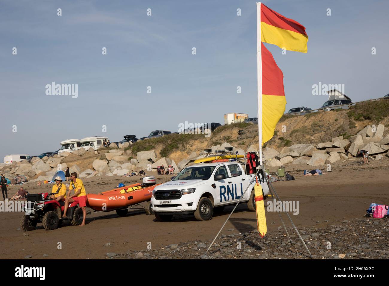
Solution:
M 327 97 L 312 95 L 319 82 L 345 84 L 354 102 L 389 92 L 389 2 L 263 3 L 300 22 L 309 37 L 307 54 L 282 55 L 266 45 L 284 72 L 286 109 L 320 107 Z M 52 152 L 70 138 L 119 141 L 175 132 L 185 121 L 223 123 L 228 112 L 257 114 L 255 1 L 2 0 L 1 6 L 0 161 Z M 78 98 L 46 95 L 53 81 L 78 84 Z

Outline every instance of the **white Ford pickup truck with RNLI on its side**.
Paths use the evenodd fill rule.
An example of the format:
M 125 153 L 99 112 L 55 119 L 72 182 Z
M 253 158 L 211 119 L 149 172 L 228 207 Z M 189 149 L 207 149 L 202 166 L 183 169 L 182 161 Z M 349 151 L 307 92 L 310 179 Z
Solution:
M 244 167 L 236 161 L 199 163 L 184 168 L 172 181 L 152 191 L 151 208 L 156 219 L 170 221 L 175 214 L 195 214 L 198 221 L 207 221 L 214 212 L 236 204 L 242 196 L 240 202 L 247 203 L 249 211 L 255 211 L 255 174 L 246 175 Z M 263 176 L 258 177 L 266 197 L 269 188 Z

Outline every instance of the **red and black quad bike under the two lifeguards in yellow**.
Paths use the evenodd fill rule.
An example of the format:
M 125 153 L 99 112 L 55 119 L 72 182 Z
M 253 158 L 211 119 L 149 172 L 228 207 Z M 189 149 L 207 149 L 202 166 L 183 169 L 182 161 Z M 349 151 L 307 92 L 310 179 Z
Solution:
M 23 231 L 34 230 L 37 223 L 43 223 L 45 230 L 55 230 L 64 220 L 70 219 L 72 225 L 81 225 L 82 209 L 76 202 L 72 202 L 67 210 L 67 218 L 63 219 L 65 201 L 58 202 L 49 198 L 54 193 L 40 193 L 27 195 L 27 205 L 20 226 Z

